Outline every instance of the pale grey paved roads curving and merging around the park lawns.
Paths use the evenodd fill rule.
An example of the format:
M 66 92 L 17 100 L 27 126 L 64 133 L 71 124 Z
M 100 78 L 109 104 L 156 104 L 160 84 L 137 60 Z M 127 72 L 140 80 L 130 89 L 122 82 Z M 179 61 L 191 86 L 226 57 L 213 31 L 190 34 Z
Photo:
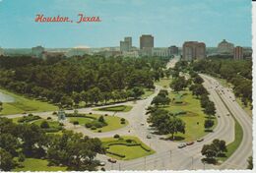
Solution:
M 178 61 L 178 58 L 172 59 L 168 63 L 168 67 L 173 67 L 174 64 Z M 152 134 L 152 130 L 147 123 L 148 115 L 146 115 L 146 108 L 151 104 L 151 101 L 154 96 L 156 96 L 160 90 L 160 86 L 156 87 L 156 91 L 153 95 L 149 96 L 146 99 L 138 100 L 135 102 L 130 101 L 126 103 L 119 103 L 116 105 L 132 105 L 133 108 L 129 112 L 118 112 L 114 114 L 114 116 L 123 117 L 129 121 L 129 125 L 125 128 L 106 132 L 106 133 L 94 133 L 90 130 L 82 126 L 74 127 L 68 121 L 64 122 L 65 128 L 69 130 L 73 130 L 75 132 L 81 132 L 90 137 L 113 137 L 115 134 L 119 135 L 131 135 L 140 138 L 142 142 L 150 145 L 156 153 L 153 155 L 149 155 L 143 158 L 137 158 L 129 161 L 117 161 L 115 164 L 111 164 L 106 161 L 108 158 L 105 155 L 97 155 L 97 158 L 100 160 L 104 160 L 106 162 L 105 168 L 107 170 L 185 170 L 185 169 L 244 169 L 246 168 L 246 159 L 252 153 L 252 126 L 251 120 L 248 119 L 249 116 L 239 107 L 239 105 L 234 101 L 231 101 L 229 98 L 233 96 L 230 91 L 226 90 L 224 95 L 221 95 L 224 99 L 224 102 L 229 107 L 231 112 L 237 118 L 237 121 L 241 124 L 244 131 L 244 138 L 242 142 L 242 146 L 240 145 L 235 153 L 228 158 L 221 166 L 213 166 L 206 164 L 204 165 L 201 162 L 201 148 L 203 144 L 210 144 L 214 139 L 224 140 L 227 144 L 231 143 L 234 140 L 234 120 L 231 116 L 226 116 L 228 110 L 224 106 L 224 102 L 220 98 L 217 93 L 217 89 L 215 86 L 221 87 L 217 81 L 215 81 L 211 77 L 207 77 L 205 75 L 201 75 L 204 79 L 204 87 L 210 92 L 210 99 L 213 100 L 216 104 L 217 108 L 217 117 L 218 125 L 213 133 L 205 136 L 205 140 L 202 143 L 196 143 L 193 145 L 186 146 L 184 148 L 178 149 L 178 143 L 173 143 L 169 141 L 160 140 L 160 136 Z M 72 112 L 72 111 L 66 111 Z M 109 116 L 113 116 L 113 113 L 110 112 L 101 112 L 94 111 L 93 108 L 82 108 L 79 109 L 81 113 L 100 113 L 100 114 L 109 114 Z M 36 113 L 43 118 L 47 116 L 51 116 L 56 119 L 56 116 L 51 115 L 52 112 L 42 112 Z M 9 115 L 9 118 L 15 118 L 23 116 L 22 114 L 18 115 Z M 141 124 L 144 124 L 143 126 Z M 130 131 L 130 133 L 128 132 Z M 147 135 L 151 135 L 152 139 L 147 139 Z

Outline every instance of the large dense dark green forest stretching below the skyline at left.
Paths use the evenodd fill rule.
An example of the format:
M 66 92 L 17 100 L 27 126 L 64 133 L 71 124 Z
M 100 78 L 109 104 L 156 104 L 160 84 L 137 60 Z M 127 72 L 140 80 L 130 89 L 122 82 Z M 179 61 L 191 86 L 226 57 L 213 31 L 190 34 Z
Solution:
M 24 58 L 24 61 L 22 61 Z M 1 57 L 0 86 L 54 103 L 138 98 L 141 88 L 155 88 L 168 58 L 120 58 L 85 55 L 55 59 Z M 12 65 L 10 65 L 12 64 Z M 140 93 L 140 94 L 138 94 Z

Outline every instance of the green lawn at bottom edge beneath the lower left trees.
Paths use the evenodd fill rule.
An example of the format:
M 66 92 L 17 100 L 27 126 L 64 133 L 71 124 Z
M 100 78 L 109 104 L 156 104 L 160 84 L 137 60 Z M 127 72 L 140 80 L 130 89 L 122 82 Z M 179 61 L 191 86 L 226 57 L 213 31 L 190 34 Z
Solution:
M 47 160 L 37 158 L 27 158 L 21 164 L 24 165 L 23 168 L 16 168 L 12 171 L 65 171 L 67 169 L 60 166 L 47 166 Z

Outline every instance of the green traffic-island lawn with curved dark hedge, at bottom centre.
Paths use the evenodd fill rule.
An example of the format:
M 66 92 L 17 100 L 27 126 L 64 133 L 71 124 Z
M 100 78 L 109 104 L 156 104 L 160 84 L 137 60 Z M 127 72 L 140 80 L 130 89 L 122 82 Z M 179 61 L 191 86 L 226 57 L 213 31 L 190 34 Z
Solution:
M 113 155 L 110 153 L 106 153 L 106 155 L 120 159 L 120 160 L 130 160 L 134 158 L 144 157 L 150 154 L 155 153 L 155 150 L 150 148 L 148 145 L 142 143 L 138 138 L 136 137 L 121 137 L 123 140 L 118 140 L 114 138 L 104 138 L 100 139 L 103 143 L 103 146 L 109 147 L 107 148 L 107 151 L 114 152 L 117 154 L 125 155 L 125 157 L 119 157 L 117 155 Z M 142 144 L 142 146 L 146 149 L 144 149 L 141 145 L 133 145 L 133 146 L 127 146 L 124 144 L 128 144 L 126 140 L 132 140 L 131 144 Z M 108 144 L 114 144 L 114 145 L 108 145 Z

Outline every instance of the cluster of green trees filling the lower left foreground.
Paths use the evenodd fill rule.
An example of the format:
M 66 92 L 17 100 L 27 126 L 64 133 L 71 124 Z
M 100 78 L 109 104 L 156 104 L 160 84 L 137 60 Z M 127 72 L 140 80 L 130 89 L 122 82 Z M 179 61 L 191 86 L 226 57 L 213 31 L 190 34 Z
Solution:
M 50 165 L 64 165 L 69 170 L 96 170 L 96 153 L 104 153 L 98 139 L 83 137 L 70 131 L 63 135 L 46 134 L 34 124 L 15 124 L 0 118 L 0 167 L 10 171 L 26 157 L 47 159 Z

